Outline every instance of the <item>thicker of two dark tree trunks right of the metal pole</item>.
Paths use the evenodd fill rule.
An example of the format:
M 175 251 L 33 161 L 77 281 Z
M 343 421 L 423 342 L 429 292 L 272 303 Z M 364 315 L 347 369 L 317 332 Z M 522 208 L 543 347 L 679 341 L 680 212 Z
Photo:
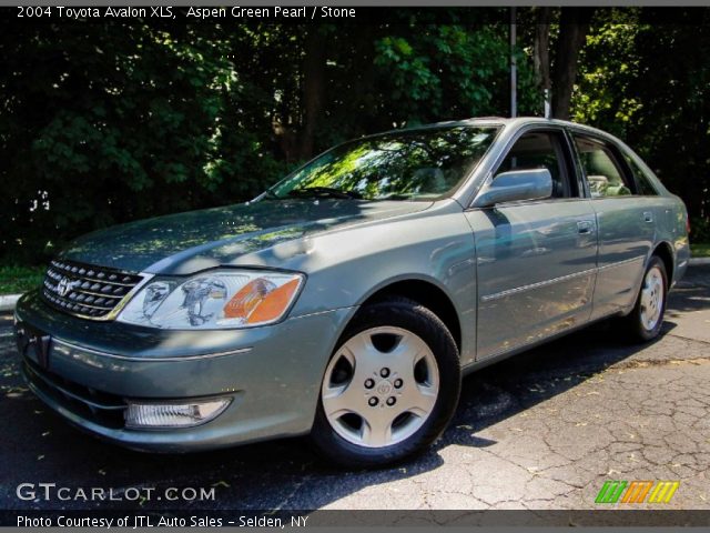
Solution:
M 594 8 L 562 8 L 552 88 L 552 117 L 569 119 L 569 104 L 577 77 L 577 58 L 585 44 Z

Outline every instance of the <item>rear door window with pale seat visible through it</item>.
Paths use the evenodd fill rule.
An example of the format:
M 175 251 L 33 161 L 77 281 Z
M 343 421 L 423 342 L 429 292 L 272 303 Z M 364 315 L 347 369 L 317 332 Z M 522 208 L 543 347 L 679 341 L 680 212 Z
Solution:
M 586 137 L 574 137 L 592 198 L 632 194 L 621 165 L 606 143 Z

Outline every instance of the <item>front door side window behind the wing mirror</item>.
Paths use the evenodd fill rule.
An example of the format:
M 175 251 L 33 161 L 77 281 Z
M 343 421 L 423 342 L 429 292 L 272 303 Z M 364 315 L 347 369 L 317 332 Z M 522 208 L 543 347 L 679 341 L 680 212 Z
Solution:
M 509 170 L 547 169 L 552 177 L 552 197 L 569 197 L 565 157 L 556 133 L 536 131 L 520 137 L 496 175 Z

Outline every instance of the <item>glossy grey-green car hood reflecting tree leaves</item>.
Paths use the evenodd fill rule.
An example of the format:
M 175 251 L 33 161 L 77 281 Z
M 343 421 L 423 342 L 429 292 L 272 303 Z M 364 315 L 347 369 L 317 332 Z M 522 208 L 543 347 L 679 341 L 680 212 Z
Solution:
M 60 259 L 131 272 L 186 274 L 284 241 L 423 211 L 430 202 L 263 200 L 141 220 L 71 242 Z

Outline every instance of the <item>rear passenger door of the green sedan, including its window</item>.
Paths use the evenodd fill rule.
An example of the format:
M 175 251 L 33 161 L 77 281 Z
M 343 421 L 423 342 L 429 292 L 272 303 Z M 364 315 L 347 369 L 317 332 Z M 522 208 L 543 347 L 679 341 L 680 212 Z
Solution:
M 657 209 L 643 197 L 620 149 L 581 131 L 571 137 L 599 231 L 592 319 L 628 309 L 653 244 Z

